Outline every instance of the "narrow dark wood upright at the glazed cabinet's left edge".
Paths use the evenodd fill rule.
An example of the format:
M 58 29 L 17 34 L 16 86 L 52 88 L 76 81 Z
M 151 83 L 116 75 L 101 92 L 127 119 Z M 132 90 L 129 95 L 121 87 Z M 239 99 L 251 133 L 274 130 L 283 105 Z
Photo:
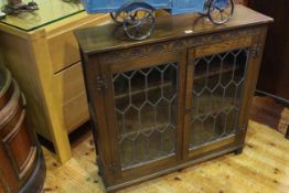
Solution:
M 115 175 L 111 171 L 111 152 L 108 133 L 107 115 L 103 92 L 97 89 L 97 77 L 100 76 L 98 55 L 86 55 L 81 51 L 85 89 L 88 109 L 93 121 L 93 135 L 97 149 L 97 163 L 105 184 L 114 184 Z

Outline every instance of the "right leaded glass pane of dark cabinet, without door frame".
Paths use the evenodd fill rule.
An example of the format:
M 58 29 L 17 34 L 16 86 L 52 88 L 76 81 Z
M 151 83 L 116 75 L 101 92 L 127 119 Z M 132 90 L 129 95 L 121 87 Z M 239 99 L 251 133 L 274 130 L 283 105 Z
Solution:
M 190 149 L 235 135 L 248 49 L 195 60 Z

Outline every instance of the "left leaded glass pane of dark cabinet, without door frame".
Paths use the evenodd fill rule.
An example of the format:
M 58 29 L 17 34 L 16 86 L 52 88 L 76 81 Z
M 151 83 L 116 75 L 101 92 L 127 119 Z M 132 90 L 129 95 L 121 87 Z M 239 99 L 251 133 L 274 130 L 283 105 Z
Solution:
M 174 63 L 113 75 L 122 170 L 175 154 L 178 75 Z

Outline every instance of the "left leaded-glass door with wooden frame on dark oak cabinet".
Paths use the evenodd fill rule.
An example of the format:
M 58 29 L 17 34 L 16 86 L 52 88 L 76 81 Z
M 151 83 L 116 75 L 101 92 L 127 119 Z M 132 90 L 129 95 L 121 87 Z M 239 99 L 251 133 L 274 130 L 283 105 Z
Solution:
M 186 52 L 175 51 L 103 63 L 116 179 L 146 176 L 180 159 L 185 62 Z

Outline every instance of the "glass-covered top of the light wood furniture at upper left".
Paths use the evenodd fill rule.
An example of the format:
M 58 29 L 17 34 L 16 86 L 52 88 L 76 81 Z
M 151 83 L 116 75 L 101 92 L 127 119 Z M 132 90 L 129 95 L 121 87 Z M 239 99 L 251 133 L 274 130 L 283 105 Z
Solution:
M 23 2 L 28 1 L 23 0 Z M 84 11 L 79 2 L 64 2 L 63 0 L 34 1 L 39 4 L 39 10 L 21 12 L 18 15 L 8 15 L 6 19 L 0 20 L 0 22 L 20 30 L 31 31 Z

